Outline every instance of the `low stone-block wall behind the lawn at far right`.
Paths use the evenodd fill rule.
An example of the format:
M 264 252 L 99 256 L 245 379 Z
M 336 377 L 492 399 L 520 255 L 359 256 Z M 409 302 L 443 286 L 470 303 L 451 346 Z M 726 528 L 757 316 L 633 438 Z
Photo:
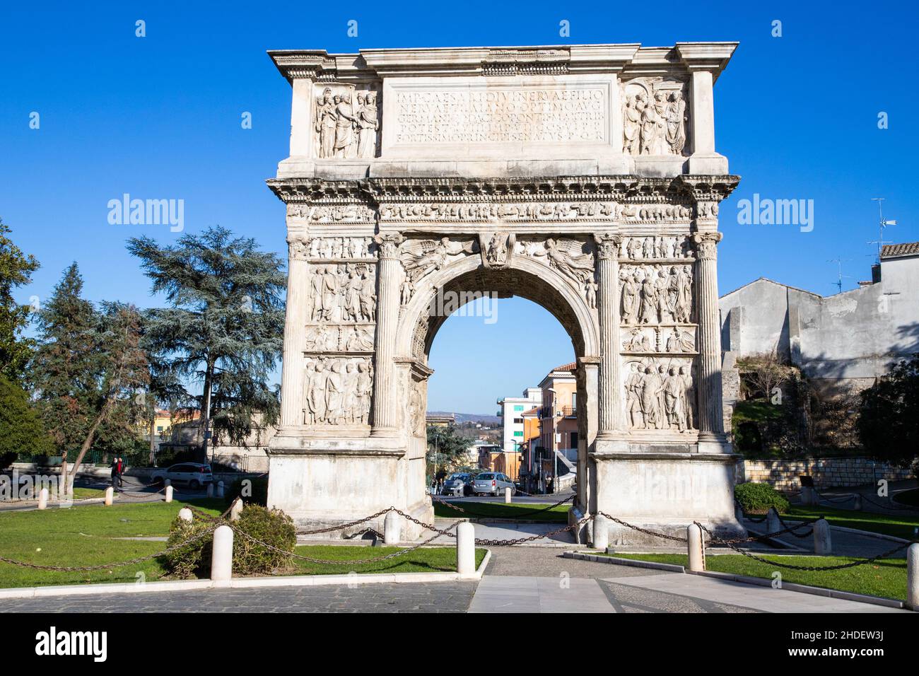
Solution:
M 863 486 L 878 479 L 913 478 L 909 469 L 897 469 L 865 457 L 802 458 L 800 460 L 740 460 L 736 479 L 771 484 L 779 490 L 797 491 L 800 475 L 811 475 L 818 488 Z

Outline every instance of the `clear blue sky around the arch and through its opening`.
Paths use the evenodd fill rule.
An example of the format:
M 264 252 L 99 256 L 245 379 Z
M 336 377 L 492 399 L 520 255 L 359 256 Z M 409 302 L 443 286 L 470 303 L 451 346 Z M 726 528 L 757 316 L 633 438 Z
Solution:
M 749 6 L 747 6 L 749 5 Z M 716 145 L 743 181 L 722 205 L 720 290 L 766 276 L 835 292 L 868 279 L 877 206 L 887 238 L 919 240 L 913 3 L 6 3 L 0 10 L 0 216 L 40 259 L 22 301 L 72 260 L 88 298 L 156 303 L 124 249 L 165 225 L 111 225 L 107 203 L 182 199 L 187 232 L 212 224 L 286 253 L 284 209 L 265 187 L 288 149 L 290 89 L 269 49 L 739 40 L 715 87 Z M 689 13 L 689 8 L 692 13 Z M 135 37 L 135 21 L 146 37 Z M 357 38 L 346 35 L 357 20 Z M 559 36 L 568 20 L 571 37 Z M 782 22 L 782 37 L 771 36 Z M 40 114 L 40 129 L 29 115 Z M 240 125 L 252 113 L 252 129 Z M 878 128 L 879 112 L 889 128 Z M 814 228 L 741 225 L 754 193 L 813 200 Z M 521 343 L 521 336 L 524 338 Z M 523 347 L 521 347 L 521 345 Z M 431 409 L 494 412 L 572 356 L 538 305 L 502 301 L 499 321 L 453 317 L 437 336 Z

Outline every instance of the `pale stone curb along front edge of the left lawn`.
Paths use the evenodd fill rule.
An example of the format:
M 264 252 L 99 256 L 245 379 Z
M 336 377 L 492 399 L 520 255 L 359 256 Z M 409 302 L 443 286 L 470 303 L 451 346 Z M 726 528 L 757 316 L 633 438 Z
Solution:
M 17 587 L 0 590 L 3 599 L 39 599 L 50 596 L 97 596 L 100 594 L 128 594 L 156 591 L 193 591 L 209 589 L 254 589 L 259 587 L 321 587 L 325 585 L 366 585 L 411 582 L 455 582 L 482 579 L 485 567 L 492 558 L 486 549 L 482 563 L 471 575 L 459 573 L 356 573 L 354 575 L 290 575 L 277 578 L 232 578 L 215 582 L 212 579 L 177 579 L 143 584 L 87 584 L 50 585 L 47 587 Z

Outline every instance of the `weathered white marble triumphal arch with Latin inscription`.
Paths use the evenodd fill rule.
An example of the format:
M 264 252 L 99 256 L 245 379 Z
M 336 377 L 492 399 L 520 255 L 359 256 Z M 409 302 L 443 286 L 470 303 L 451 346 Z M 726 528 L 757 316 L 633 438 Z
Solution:
M 716 262 L 739 178 L 715 152 L 712 99 L 735 47 L 270 52 L 293 102 L 268 181 L 289 243 L 269 504 L 312 528 L 390 506 L 432 521 L 427 354 L 446 318 L 432 308 L 492 292 L 542 304 L 572 337 L 573 519 L 742 531 Z

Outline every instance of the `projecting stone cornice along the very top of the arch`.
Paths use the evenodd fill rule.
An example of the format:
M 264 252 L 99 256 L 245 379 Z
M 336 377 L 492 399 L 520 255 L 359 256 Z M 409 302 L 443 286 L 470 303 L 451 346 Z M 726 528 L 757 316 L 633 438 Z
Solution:
M 736 42 L 678 42 L 674 47 L 641 47 L 638 42 L 528 47 L 442 47 L 370 49 L 329 54 L 324 50 L 268 52 L 288 81 L 356 82 L 418 75 L 552 75 L 619 73 L 675 74 L 710 70 L 715 78 Z M 678 74 L 678 73 L 677 73 Z

